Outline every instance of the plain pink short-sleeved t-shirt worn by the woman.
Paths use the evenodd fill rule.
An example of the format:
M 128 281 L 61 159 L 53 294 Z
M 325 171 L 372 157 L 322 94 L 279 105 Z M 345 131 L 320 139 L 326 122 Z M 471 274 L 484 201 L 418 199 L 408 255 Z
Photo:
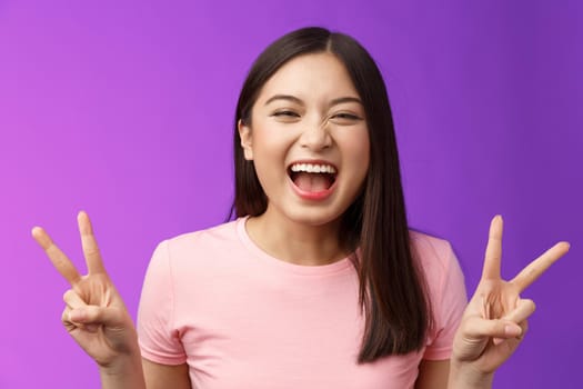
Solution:
M 466 303 L 450 245 L 411 232 L 436 320 L 421 352 L 356 363 L 363 318 L 350 260 L 298 266 L 257 247 L 245 219 L 159 245 L 138 313 L 142 356 L 187 362 L 198 389 L 403 389 L 449 359 Z

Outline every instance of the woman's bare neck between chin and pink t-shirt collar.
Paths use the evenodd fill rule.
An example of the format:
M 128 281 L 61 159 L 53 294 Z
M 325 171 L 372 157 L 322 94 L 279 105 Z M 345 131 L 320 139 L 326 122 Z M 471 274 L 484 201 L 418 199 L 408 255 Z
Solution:
M 338 220 L 321 226 L 296 222 L 268 210 L 249 218 L 245 228 L 251 240 L 271 257 L 295 265 L 322 266 L 349 255 L 340 248 L 339 226 Z

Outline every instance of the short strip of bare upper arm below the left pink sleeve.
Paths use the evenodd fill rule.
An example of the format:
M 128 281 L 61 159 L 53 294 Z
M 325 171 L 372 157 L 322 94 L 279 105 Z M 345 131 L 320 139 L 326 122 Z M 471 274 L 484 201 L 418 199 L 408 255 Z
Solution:
M 191 389 L 189 366 L 160 365 L 142 358 L 143 376 L 148 389 Z

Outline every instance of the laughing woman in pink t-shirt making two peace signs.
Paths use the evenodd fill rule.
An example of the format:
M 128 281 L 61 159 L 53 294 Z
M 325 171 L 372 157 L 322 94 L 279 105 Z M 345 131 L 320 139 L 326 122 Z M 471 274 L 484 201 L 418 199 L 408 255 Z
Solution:
M 308 28 L 268 47 L 234 134 L 238 218 L 157 248 L 138 331 L 87 215 L 88 276 L 33 229 L 72 286 L 62 321 L 103 388 L 491 387 L 534 311 L 520 292 L 567 243 L 503 281 L 494 218 L 466 306 L 449 245 L 408 229 L 384 82 L 344 34 Z

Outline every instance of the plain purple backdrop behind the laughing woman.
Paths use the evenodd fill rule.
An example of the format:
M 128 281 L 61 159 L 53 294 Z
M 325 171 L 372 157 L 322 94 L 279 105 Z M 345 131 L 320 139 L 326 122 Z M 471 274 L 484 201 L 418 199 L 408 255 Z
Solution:
M 440 3 L 438 6 L 438 3 Z M 413 227 L 452 241 L 473 291 L 490 218 L 512 277 L 572 243 L 496 388 L 580 387 L 583 6 L 573 1 L 0 1 L 0 388 L 99 388 L 60 323 L 46 227 L 84 271 L 86 209 L 134 315 L 155 245 L 221 222 L 255 56 L 291 29 L 353 34 L 386 79 Z

